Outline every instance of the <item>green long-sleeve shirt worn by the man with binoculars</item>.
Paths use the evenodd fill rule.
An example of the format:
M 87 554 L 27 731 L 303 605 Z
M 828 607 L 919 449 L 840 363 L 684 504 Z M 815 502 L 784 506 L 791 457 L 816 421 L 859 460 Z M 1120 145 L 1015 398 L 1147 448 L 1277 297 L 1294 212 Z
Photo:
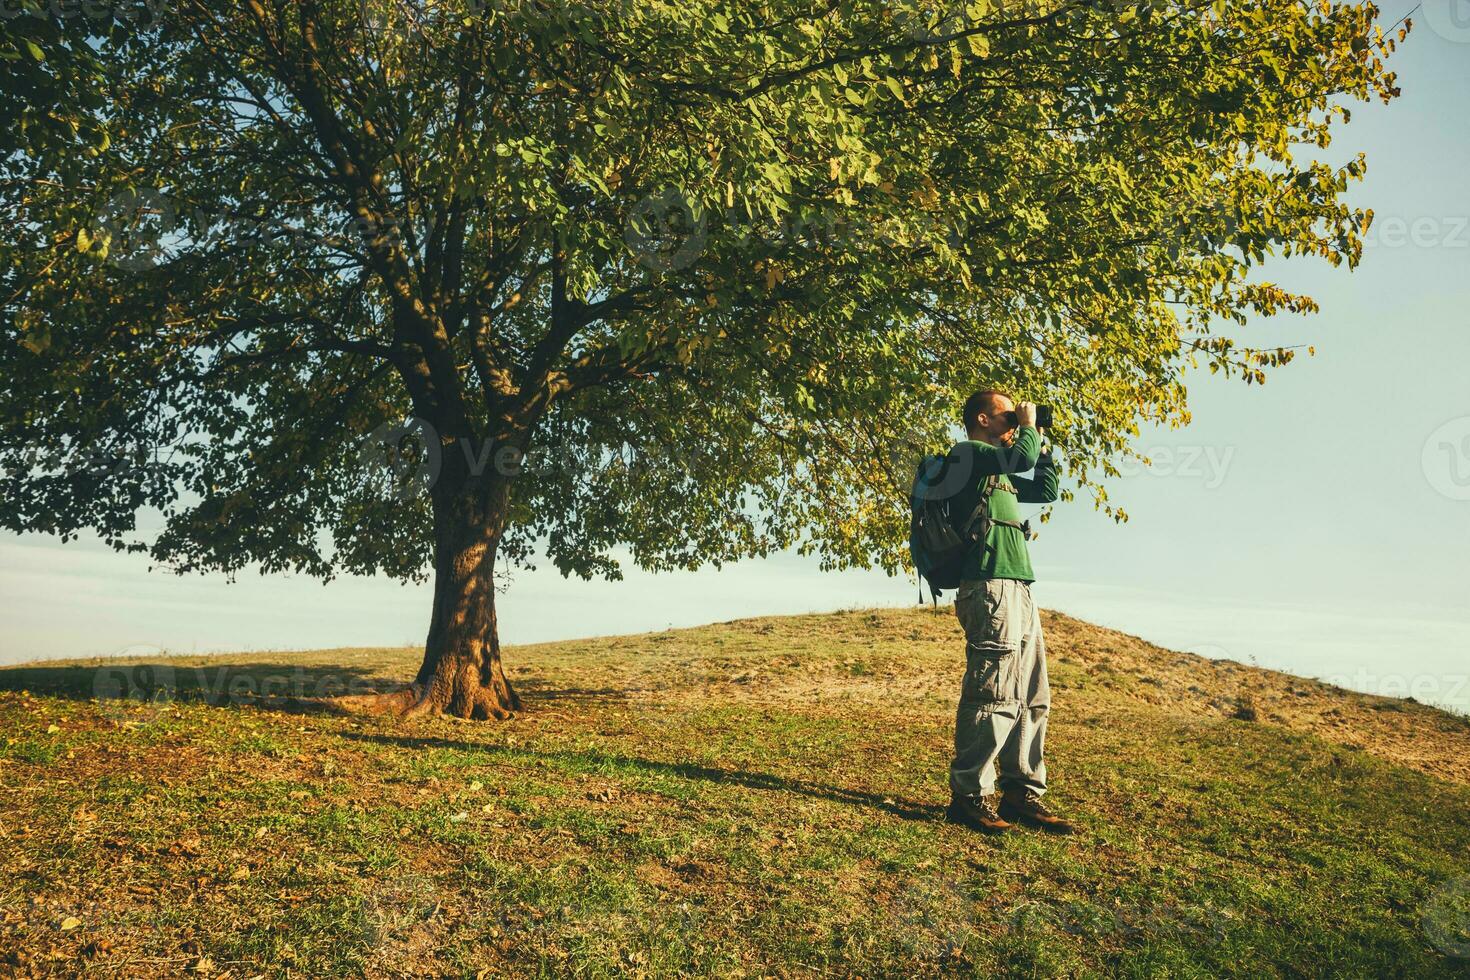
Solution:
M 1022 426 L 1016 441 L 1008 447 L 966 439 L 957 442 L 950 455 L 956 457 L 951 466 L 961 467 L 954 472 L 966 475 L 961 488 L 956 491 L 951 511 L 958 514 L 957 520 L 963 520 L 975 510 L 988 476 L 1001 478 L 991 494 L 991 517 L 995 520 L 1020 523 L 1017 502 L 1050 504 L 1057 500 L 1057 467 L 1050 454 L 1041 455 L 1041 436 L 1032 426 Z M 1036 470 L 1035 478 L 1016 476 L 1030 469 Z M 986 544 L 983 566 L 979 542 L 970 548 L 960 572 L 961 579 L 1036 580 L 1030 569 L 1030 554 L 1026 551 L 1026 535 L 1019 527 L 992 525 Z

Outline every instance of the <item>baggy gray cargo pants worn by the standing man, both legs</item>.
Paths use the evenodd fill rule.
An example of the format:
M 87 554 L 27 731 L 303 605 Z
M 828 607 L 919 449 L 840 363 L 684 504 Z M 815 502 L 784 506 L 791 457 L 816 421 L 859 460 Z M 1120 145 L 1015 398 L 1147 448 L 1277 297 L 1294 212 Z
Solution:
M 964 682 L 954 718 L 950 790 L 956 796 L 1001 789 L 1047 792 L 1047 644 L 1030 583 L 964 579 L 954 595 L 964 627 Z

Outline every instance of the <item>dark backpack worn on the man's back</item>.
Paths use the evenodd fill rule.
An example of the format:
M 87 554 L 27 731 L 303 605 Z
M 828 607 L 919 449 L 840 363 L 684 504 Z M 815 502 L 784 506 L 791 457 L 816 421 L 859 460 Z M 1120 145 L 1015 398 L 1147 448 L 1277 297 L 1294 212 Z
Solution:
M 954 473 L 951 455 L 926 454 L 914 472 L 913 489 L 908 492 L 908 555 L 920 576 L 919 604 L 923 605 L 923 580 L 929 582 L 929 597 L 935 607 L 944 589 L 960 588 L 960 572 L 964 555 L 979 542 L 980 564 L 985 564 L 986 541 L 991 525 L 1008 525 L 1030 536 L 1030 522 L 1019 525 L 1010 520 L 991 519 L 991 494 L 1000 485 L 1000 476 L 985 478 L 980 500 L 969 514 L 958 514 L 953 504 L 956 492 L 963 485 L 964 475 Z

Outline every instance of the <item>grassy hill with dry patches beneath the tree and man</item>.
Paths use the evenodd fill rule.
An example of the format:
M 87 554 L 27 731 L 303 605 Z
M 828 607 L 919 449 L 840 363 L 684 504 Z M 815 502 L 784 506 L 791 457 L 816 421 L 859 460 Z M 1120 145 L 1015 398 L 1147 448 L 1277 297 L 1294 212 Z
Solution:
M 942 823 L 947 608 L 0 670 L 0 976 L 1470 976 L 1470 721 L 1042 619 L 1063 839 Z

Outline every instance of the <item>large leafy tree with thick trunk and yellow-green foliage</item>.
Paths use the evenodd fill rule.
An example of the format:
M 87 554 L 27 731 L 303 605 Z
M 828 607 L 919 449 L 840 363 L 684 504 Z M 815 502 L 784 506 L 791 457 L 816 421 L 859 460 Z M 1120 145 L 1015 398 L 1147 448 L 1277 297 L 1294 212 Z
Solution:
M 3 147 L 0 525 L 432 573 L 384 707 L 476 718 L 497 560 L 895 573 L 978 385 L 1123 517 L 1189 366 L 1291 359 L 1232 336 L 1313 309 L 1254 267 L 1358 260 L 1319 150 L 1395 94 L 1332 0 L 119 3 L 0 51 L 91 66 Z

